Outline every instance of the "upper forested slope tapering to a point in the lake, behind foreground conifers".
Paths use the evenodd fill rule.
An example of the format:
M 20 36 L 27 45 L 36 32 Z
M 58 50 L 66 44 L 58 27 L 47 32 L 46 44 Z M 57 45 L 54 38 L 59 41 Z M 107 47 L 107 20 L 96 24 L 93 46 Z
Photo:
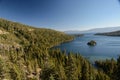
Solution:
M 20 45 L 29 45 L 32 42 L 33 44 L 40 46 L 44 45 L 50 48 L 54 45 L 73 39 L 73 37 L 66 35 L 63 32 L 43 28 L 33 28 L 28 25 L 11 22 L 4 19 L 0 19 L 0 26 L 0 32 L 2 33 L 1 36 L 9 35 L 7 36 L 8 38 L 6 39 L 6 43 L 11 41 L 11 37 L 11 39 L 18 39 L 19 41 L 14 42 L 19 43 Z M 6 34 L 3 34 L 5 31 Z

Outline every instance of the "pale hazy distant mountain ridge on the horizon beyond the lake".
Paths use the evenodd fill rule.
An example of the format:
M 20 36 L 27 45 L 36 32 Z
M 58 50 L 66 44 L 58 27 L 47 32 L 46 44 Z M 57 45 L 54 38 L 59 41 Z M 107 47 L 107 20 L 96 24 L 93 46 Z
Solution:
M 118 30 L 120 30 L 120 26 L 118 26 L 118 27 L 95 28 L 95 29 L 89 29 L 89 30 L 84 30 L 84 31 L 69 30 L 69 31 L 65 31 L 65 33 L 67 33 L 67 34 L 104 33 L 104 32 L 118 31 Z

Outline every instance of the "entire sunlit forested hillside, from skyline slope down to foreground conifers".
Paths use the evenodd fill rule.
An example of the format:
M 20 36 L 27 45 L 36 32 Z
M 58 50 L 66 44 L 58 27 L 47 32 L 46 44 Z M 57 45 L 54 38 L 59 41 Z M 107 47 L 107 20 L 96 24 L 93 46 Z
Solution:
M 111 80 L 80 54 L 50 49 L 73 39 L 0 19 L 0 80 Z

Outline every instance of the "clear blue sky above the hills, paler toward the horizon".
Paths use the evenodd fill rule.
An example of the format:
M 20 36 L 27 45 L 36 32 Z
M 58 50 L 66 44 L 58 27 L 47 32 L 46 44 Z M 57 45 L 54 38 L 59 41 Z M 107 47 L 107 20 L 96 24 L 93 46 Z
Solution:
M 0 0 L 0 17 L 60 31 L 120 26 L 119 0 Z

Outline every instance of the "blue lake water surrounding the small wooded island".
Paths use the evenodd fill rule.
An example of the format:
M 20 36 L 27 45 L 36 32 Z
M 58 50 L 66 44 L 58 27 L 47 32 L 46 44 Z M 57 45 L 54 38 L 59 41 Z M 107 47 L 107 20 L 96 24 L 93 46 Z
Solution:
M 87 42 L 95 40 L 96 46 L 88 46 Z M 91 62 L 95 60 L 117 59 L 120 55 L 120 37 L 99 36 L 85 34 L 82 37 L 76 37 L 73 41 L 56 46 L 66 52 L 80 53 Z

